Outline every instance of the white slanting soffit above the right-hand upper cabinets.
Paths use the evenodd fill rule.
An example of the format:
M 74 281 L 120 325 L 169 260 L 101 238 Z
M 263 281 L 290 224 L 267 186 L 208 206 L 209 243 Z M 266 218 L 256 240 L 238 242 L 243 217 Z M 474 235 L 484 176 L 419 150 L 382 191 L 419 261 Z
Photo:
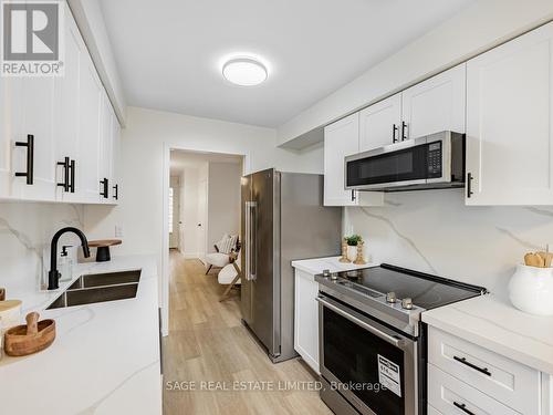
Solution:
M 476 1 L 280 126 L 279 143 L 302 136 L 552 19 L 551 0 Z M 367 39 L 372 41 L 376 40 Z

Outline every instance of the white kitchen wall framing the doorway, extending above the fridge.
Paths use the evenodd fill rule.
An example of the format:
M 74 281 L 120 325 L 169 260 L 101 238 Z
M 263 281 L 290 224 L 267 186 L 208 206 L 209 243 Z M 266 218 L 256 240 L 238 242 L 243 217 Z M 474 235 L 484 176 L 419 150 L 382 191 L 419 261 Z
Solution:
M 153 253 L 161 272 L 166 266 L 164 188 L 169 184 L 171 147 L 244 155 L 246 173 L 269 167 L 304 173 L 323 169 L 321 146 L 304 152 L 276 148 L 276 132 L 271 128 L 128 107 L 121 143 L 119 205 L 86 206 L 85 229 L 91 238 L 109 238 L 115 226 L 121 227 L 124 236 L 118 253 Z M 160 293 L 167 333 L 168 284 L 164 281 Z

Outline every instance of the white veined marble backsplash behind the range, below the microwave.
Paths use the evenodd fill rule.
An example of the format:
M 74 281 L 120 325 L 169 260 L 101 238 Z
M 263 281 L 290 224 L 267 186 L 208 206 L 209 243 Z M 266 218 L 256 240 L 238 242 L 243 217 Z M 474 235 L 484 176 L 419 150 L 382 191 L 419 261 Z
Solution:
M 373 261 L 488 288 L 505 298 L 528 251 L 553 250 L 553 207 L 468 207 L 462 190 L 386 195 L 384 207 L 344 208 Z

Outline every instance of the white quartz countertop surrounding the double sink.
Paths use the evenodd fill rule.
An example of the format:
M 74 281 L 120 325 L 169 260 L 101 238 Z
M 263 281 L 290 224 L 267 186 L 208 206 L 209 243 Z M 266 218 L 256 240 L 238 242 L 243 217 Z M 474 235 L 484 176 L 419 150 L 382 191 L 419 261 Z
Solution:
M 55 292 L 18 292 L 23 315 L 54 319 L 56 339 L 46 350 L 0 360 L 2 414 L 161 414 L 157 269 L 153 257 L 113 258 L 79 264 L 84 273 L 142 270 L 136 298 L 44 310 Z

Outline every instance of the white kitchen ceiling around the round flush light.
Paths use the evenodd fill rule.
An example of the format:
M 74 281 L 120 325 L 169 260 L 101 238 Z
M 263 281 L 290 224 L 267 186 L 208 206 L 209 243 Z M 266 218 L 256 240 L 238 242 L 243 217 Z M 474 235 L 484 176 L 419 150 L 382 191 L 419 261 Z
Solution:
M 275 127 L 474 0 L 100 0 L 129 105 Z M 269 80 L 229 84 L 253 53 Z

